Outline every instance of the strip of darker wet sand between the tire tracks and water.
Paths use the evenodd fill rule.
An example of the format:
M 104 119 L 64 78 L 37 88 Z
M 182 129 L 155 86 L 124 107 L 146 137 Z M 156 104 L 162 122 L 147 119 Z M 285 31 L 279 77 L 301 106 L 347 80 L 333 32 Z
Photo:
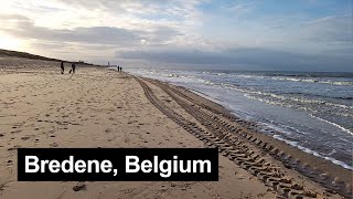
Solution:
M 165 84 L 170 87 L 173 87 L 174 90 L 179 90 L 178 92 L 184 93 L 186 95 L 185 98 L 193 101 L 193 103 L 200 105 L 201 107 L 221 115 L 221 117 L 225 117 L 231 123 L 243 123 L 243 127 L 245 127 L 245 129 L 248 130 L 247 133 L 250 134 L 242 135 L 240 133 L 240 135 L 254 145 L 257 145 L 263 150 L 267 150 L 267 153 L 270 154 L 270 156 L 272 156 L 280 164 L 282 164 L 284 167 L 288 169 L 295 169 L 296 171 L 310 178 L 311 180 L 323 185 L 325 188 L 333 188 L 340 192 L 344 191 L 342 189 L 350 189 L 349 187 L 352 185 L 352 170 L 343 168 L 342 166 L 336 165 L 330 160 L 306 153 L 282 140 L 276 139 L 272 136 L 266 135 L 256 128 L 256 122 L 239 119 L 237 116 L 232 114 L 229 109 L 208 98 L 204 98 L 203 96 L 197 95 L 192 91 L 189 91 L 189 88 L 158 80 L 146 80 L 149 82 L 154 82 L 156 85 Z M 338 188 L 338 184 L 341 184 L 341 190 L 339 190 L 340 188 Z M 346 192 L 345 197 L 349 196 L 349 192 Z

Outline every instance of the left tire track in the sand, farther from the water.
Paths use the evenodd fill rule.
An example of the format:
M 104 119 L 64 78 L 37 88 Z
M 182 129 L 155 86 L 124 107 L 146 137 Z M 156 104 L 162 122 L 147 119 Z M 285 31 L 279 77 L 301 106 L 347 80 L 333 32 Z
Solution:
M 147 98 L 163 114 L 165 114 L 173 122 L 179 124 L 185 130 L 202 140 L 208 147 L 217 147 L 220 153 L 256 176 L 265 185 L 272 187 L 278 193 L 287 198 L 321 198 L 318 192 L 314 192 L 307 187 L 293 181 L 286 176 L 279 167 L 271 165 L 268 160 L 260 157 L 260 154 L 255 153 L 250 146 L 247 145 L 244 138 L 235 136 L 228 130 L 224 130 L 222 126 L 210 119 L 207 113 L 200 111 L 195 105 L 183 101 L 175 96 L 171 91 L 163 91 L 171 95 L 178 104 L 180 104 L 188 113 L 194 116 L 207 130 L 204 130 L 195 123 L 191 123 L 180 114 L 175 113 L 163 104 L 152 92 L 152 90 L 145 83 L 143 80 L 135 77 L 142 86 Z M 231 128 L 236 132 L 235 127 Z M 266 147 L 266 146 L 265 146 Z

